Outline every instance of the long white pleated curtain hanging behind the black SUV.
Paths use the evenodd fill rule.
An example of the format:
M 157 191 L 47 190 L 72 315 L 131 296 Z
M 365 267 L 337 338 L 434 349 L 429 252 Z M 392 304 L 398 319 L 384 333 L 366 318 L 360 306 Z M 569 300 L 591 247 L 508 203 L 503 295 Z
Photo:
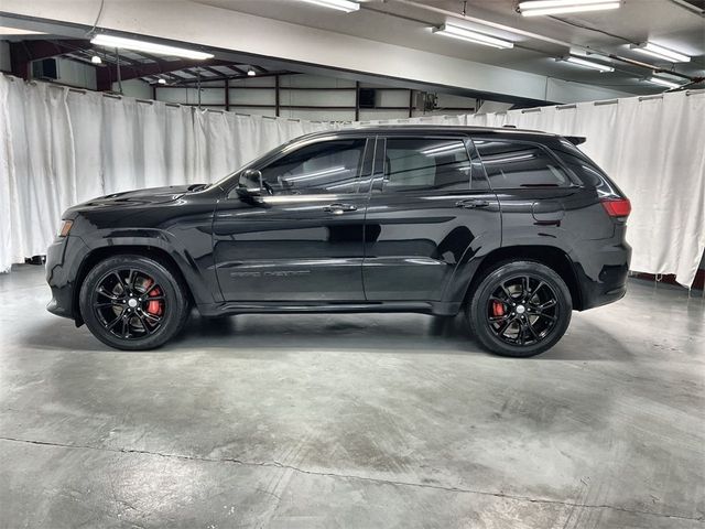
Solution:
M 688 285 L 705 249 L 705 93 L 690 94 L 373 122 L 516 125 L 587 137 L 584 150 L 632 201 L 632 269 L 675 273 Z M 45 253 L 73 204 L 213 182 L 297 136 L 357 125 L 197 110 L 4 75 L 0 102 L 0 271 Z

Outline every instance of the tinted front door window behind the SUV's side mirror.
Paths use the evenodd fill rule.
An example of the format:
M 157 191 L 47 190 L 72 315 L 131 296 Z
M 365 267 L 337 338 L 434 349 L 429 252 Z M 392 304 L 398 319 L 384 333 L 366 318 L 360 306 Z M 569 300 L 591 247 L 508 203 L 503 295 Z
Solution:
M 274 194 L 356 193 L 365 155 L 364 139 L 314 143 L 262 169 Z

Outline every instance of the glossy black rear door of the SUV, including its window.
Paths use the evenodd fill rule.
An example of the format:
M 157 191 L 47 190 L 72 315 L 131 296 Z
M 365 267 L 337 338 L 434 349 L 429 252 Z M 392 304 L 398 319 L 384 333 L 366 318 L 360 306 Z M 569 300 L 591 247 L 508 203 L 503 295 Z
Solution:
M 497 197 L 462 136 L 390 134 L 377 144 L 365 229 L 367 299 L 444 301 L 466 252 L 500 246 Z

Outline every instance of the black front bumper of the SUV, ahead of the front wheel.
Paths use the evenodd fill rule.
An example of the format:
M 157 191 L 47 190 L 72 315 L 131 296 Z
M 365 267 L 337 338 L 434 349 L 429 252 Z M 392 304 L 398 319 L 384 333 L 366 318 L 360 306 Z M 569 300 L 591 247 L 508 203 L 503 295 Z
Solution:
M 46 249 L 46 282 L 52 289 L 52 300 L 46 310 L 57 316 L 70 317 L 80 323 L 78 306 L 75 306 L 75 289 L 80 263 L 88 255 L 88 247 L 80 237 L 57 237 Z

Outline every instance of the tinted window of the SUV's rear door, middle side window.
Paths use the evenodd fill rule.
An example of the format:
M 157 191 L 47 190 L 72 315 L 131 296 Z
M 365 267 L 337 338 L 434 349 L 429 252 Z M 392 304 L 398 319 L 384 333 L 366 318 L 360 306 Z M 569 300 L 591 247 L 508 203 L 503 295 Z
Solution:
M 387 140 L 384 192 L 469 187 L 470 161 L 462 140 Z

